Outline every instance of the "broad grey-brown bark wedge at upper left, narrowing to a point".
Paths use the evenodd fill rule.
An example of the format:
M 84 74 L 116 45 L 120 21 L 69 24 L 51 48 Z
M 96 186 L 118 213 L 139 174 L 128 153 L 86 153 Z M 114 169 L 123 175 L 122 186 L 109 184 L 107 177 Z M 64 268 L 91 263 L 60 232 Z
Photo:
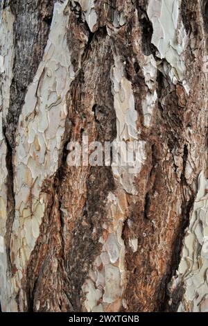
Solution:
M 15 134 L 28 85 L 32 83 L 44 55 L 54 2 L 55 0 L 10 2 L 10 9 L 15 16 L 13 25 L 15 58 L 10 86 L 10 107 L 6 117 L 6 135 L 12 148 L 15 148 Z

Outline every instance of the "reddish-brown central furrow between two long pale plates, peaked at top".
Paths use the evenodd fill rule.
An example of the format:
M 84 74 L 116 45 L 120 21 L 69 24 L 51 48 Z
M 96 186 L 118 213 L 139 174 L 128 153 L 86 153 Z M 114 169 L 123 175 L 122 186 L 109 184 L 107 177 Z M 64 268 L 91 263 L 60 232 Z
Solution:
M 52 294 L 55 298 L 58 295 L 62 311 L 80 311 L 84 303 L 82 301 L 82 286 L 88 277 L 94 259 L 101 252 L 99 239 L 103 234 L 103 223 L 107 215 L 105 203 L 109 191 L 115 189 L 111 167 L 87 167 L 86 171 L 82 167 L 78 168 L 79 172 L 83 169 L 83 172 L 86 173 L 86 194 L 83 194 L 83 198 L 79 198 L 80 207 L 75 216 L 71 216 L 72 221 L 70 221 L 69 214 L 64 213 L 67 210 L 66 205 L 70 204 L 70 200 L 71 207 L 73 207 L 72 175 L 79 173 L 76 168 L 67 166 L 67 144 L 69 141 L 74 140 L 73 135 L 77 128 L 77 117 L 79 117 L 78 128 L 80 130 L 77 134 L 77 141 L 81 141 L 83 130 L 85 132 L 88 130 L 88 136 L 92 135 L 95 141 L 101 141 L 103 144 L 104 141 L 112 141 L 116 137 L 116 116 L 110 81 L 112 65 L 110 42 L 107 41 L 105 27 L 99 28 L 95 34 L 92 40 L 88 42 L 88 46 L 85 47 L 84 51 L 89 52 L 89 54 L 86 55 L 85 61 L 82 62 L 80 70 L 76 72 L 76 78 L 71 83 L 69 90 L 68 115 L 63 135 L 64 146 L 58 161 L 58 171 L 52 180 L 45 183 L 42 188 L 43 192 L 45 189 L 49 191 L 49 197 L 40 228 L 40 239 L 38 239 L 31 255 L 27 269 L 27 279 L 24 280 L 24 286 L 28 293 L 28 307 L 24 307 L 26 311 L 37 311 L 37 302 L 40 302 L 38 311 L 47 311 L 41 293 L 42 286 L 44 286 L 44 289 L 49 286 L 44 278 L 44 275 L 49 271 L 49 266 L 51 266 L 49 257 L 51 261 L 53 259 L 57 261 L 58 272 L 56 277 L 57 282 L 60 284 L 60 293 L 58 293 L 58 289 L 53 289 L 53 293 L 48 293 L 49 300 L 53 300 Z M 89 46 L 92 42 L 94 46 Z M 106 71 L 104 72 L 105 83 L 102 82 L 99 71 L 96 76 L 97 82 L 95 80 L 96 87 L 103 89 L 103 98 L 102 96 L 98 97 L 97 94 L 94 98 L 94 102 L 97 104 L 92 108 L 96 108 L 100 113 L 99 117 L 96 117 L 94 114 L 92 115 L 92 109 L 90 115 L 87 111 L 83 111 L 84 108 L 81 103 L 85 98 L 85 92 L 82 87 L 85 82 L 83 76 L 86 74 L 86 65 L 90 62 L 90 57 L 97 51 L 101 42 L 105 44 L 106 49 L 104 55 L 101 55 L 100 58 L 98 55 L 98 60 L 105 62 Z M 71 41 L 69 46 L 71 46 Z M 107 49 L 108 51 L 106 51 Z M 45 237 L 45 234 L 51 233 L 55 234 L 53 240 L 51 240 L 51 237 Z M 46 251 L 40 257 L 43 244 L 46 246 Z M 54 246 L 56 246 L 57 250 L 54 249 Z M 46 300 L 46 298 L 44 299 Z

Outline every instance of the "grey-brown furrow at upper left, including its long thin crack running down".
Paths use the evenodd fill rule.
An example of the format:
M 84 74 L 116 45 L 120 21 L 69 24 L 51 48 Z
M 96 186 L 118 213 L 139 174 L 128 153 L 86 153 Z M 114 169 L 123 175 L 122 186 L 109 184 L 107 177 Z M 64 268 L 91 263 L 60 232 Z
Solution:
M 10 9 L 15 15 L 13 33 L 16 52 L 12 68 L 12 84 L 10 86 L 10 108 L 8 108 L 8 116 L 6 117 L 6 121 L 4 121 L 3 126 L 3 133 L 7 144 L 6 166 L 8 169 L 8 219 L 6 222 L 6 243 L 10 271 L 12 271 L 12 263 L 10 260 L 10 237 L 12 234 L 12 224 L 15 219 L 14 175 L 12 166 L 12 157 L 14 155 L 15 148 L 15 132 L 17 129 L 19 114 L 21 113 L 21 108 L 24 104 L 26 89 L 29 83 L 31 83 L 31 81 L 33 80 L 33 77 L 35 76 L 35 72 L 37 70 L 39 62 L 42 60 L 44 47 L 48 39 L 50 25 L 46 24 L 46 28 L 44 29 L 44 25 L 42 25 L 41 19 L 42 17 L 47 17 L 47 15 L 52 15 L 53 12 L 53 6 L 51 5 L 47 8 L 48 14 L 43 10 L 46 1 L 42 1 L 42 6 L 40 6 L 39 0 L 36 1 L 35 4 L 37 5 L 36 8 L 33 1 L 21 0 L 18 2 L 10 2 Z M 33 17 L 34 12 L 37 15 L 36 19 L 35 17 Z M 24 15 L 26 19 L 21 19 L 21 15 Z M 37 44 L 39 42 L 38 45 L 40 46 L 40 53 L 35 52 L 35 46 L 37 46 L 37 44 L 33 42 L 33 34 L 31 34 L 31 24 L 32 26 L 34 25 L 33 27 L 35 30 L 35 35 L 37 37 L 36 42 Z M 40 37 L 40 33 L 38 33 L 37 31 L 38 24 L 40 31 L 42 31 L 42 38 L 40 38 L 40 40 L 38 39 L 38 37 Z M 31 42 L 31 47 L 28 46 L 27 42 Z M 34 53 L 36 55 L 34 55 Z M 13 271 L 13 273 L 15 273 L 15 270 Z

